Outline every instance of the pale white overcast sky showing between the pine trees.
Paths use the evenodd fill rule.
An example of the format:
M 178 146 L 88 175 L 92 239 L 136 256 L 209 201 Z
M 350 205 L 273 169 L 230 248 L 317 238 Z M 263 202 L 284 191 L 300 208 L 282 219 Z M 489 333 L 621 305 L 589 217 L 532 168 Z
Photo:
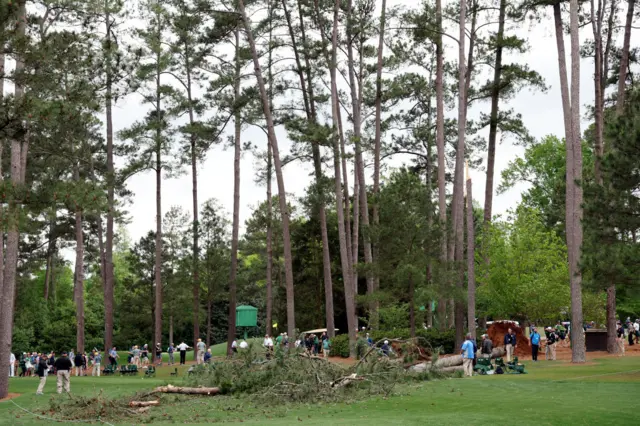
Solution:
M 380 3 L 380 1 L 378 2 Z M 394 7 L 403 5 L 409 7 L 416 4 L 415 0 L 388 0 L 387 6 Z M 447 3 L 445 0 L 443 3 Z M 378 8 L 380 5 L 378 4 Z M 590 30 L 590 27 L 588 28 Z M 457 29 L 453 28 L 453 31 Z M 530 68 L 537 71 L 546 81 L 549 90 L 545 93 L 539 91 L 531 92 L 527 89 L 520 92 L 505 107 L 513 108 L 522 114 L 525 125 L 536 138 L 554 134 L 562 137 L 564 135 L 562 102 L 560 97 L 560 84 L 558 72 L 558 58 L 556 50 L 555 36 L 553 32 L 552 19 L 543 20 L 535 25 L 526 24 L 516 30 L 517 34 L 526 37 L 529 41 L 530 50 L 525 55 L 507 56 L 505 62 L 520 62 L 529 64 Z M 581 33 L 581 43 L 586 39 L 588 31 Z M 634 38 L 636 38 L 635 36 Z M 565 37 L 569 49 L 569 37 Z M 457 46 L 452 43 L 447 47 L 446 56 L 449 59 L 457 58 Z M 569 58 L 567 61 L 569 63 Z M 581 105 L 593 104 L 593 62 L 583 59 L 581 61 Z M 469 117 L 477 116 L 480 111 L 489 113 L 490 104 L 485 102 L 474 106 Z M 584 116 L 586 108 L 583 107 Z M 455 111 L 449 112 L 455 114 Z M 114 126 L 116 130 L 126 128 L 134 121 L 141 119 L 145 114 L 145 109 L 140 105 L 140 99 L 136 96 L 129 96 L 120 101 L 114 108 Z M 584 129 L 586 122 L 583 123 Z M 230 126 L 229 131 L 232 131 Z M 283 129 L 277 131 L 281 156 L 288 151 L 290 142 L 286 138 Z M 488 128 L 483 131 L 485 137 L 488 136 Z M 266 137 L 262 130 L 256 128 L 246 128 L 242 134 L 243 142 L 252 142 L 260 149 L 266 149 Z M 514 146 L 508 139 L 504 140 L 497 147 L 496 155 L 496 176 L 495 186 L 500 182 L 500 173 L 517 156 L 522 155 L 523 149 Z M 392 166 L 400 166 L 403 163 L 409 164 L 409 158 L 396 158 Z M 257 185 L 255 179 L 255 159 L 250 153 L 245 153 L 241 161 L 241 188 L 240 188 L 240 222 L 244 224 L 252 212 L 253 207 L 266 198 L 266 189 L 263 184 Z M 288 194 L 301 196 L 305 188 L 310 184 L 312 178 L 311 166 L 309 164 L 291 163 L 284 168 L 285 187 Z M 331 173 L 331 171 L 329 171 Z M 484 189 L 486 174 L 483 170 L 471 170 L 473 180 L 473 198 L 481 205 L 484 204 Z M 199 165 L 199 200 L 201 203 L 210 198 L 216 198 L 225 210 L 230 214 L 233 209 L 233 150 L 222 147 L 213 148 L 207 155 L 204 163 Z M 370 174 L 367 177 L 368 184 L 371 184 Z M 352 182 L 351 182 L 352 183 Z M 130 222 L 126 225 L 129 237 L 136 241 L 148 231 L 155 229 L 154 221 L 156 215 L 155 207 L 155 174 L 147 172 L 132 177 L 128 181 L 128 188 L 133 192 L 132 204 L 127 207 L 130 212 Z M 520 185 L 505 194 L 494 196 L 494 214 L 502 214 L 514 208 L 520 201 L 521 192 L 526 189 Z M 277 187 L 274 181 L 274 193 Z M 171 206 L 181 206 L 191 214 L 192 211 L 191 176 L 189 171 L 183 176 L 175 179 L 165 179 L 162 188 L 162 209 L 166 213 Z

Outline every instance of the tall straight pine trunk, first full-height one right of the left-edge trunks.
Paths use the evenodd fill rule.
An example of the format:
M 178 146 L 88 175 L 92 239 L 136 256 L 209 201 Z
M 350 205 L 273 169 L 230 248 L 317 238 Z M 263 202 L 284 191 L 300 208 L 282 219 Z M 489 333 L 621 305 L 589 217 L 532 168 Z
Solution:
M 113 218 L 115 213 L 115 168 L 113 164 L 113 105 L 112 88 L 113 75 L 111 69 L 111 16 L 108 5 L 105 7 L 106 40 L 109 52 L 107 54 L 106 67 L 106 131 L 107 131 L 107 235 L 104 247 L 105 255 L 105 281 L 104 281 L 104 342 L 105 351 L 113 346 L 113 291 L 114 291 L 114 266 L 113 266 Z

